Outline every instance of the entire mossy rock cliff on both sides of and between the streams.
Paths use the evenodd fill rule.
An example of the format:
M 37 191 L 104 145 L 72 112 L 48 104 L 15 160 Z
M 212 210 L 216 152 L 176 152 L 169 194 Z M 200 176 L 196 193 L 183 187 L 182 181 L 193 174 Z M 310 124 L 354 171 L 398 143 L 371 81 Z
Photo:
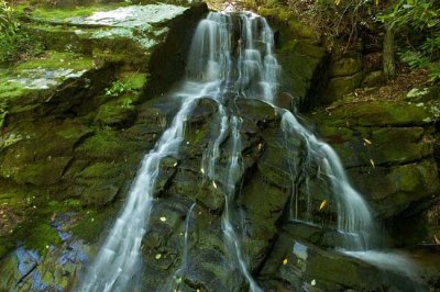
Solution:
M 25 25 L 50 49 L 0 71 L 0 290 L 76 288 L 141 157 L 177 110 L 162 93 L 183 76 L 188 41 L 206 5 L 114 9 L 124 16 L 94 7 L 85 15 L 68 10 L 56 18 L 33 11 Z M 329 76 L 333 97 L 363 81 L 366 65 L 359 56 L 344 56 L 327 70 L 327 54 L 309 27 L 286 11 L 261 13 L 278 30 L 282 87 L 293 93 L 278 98 L 284 108 L 293 101 L 302 109 L 317 104 L 314 98 L 323 90 L 317 81 Z M 381 267 L 383 261 L 336 251 L 341 240 L 336 206 L 322 206 L 328 194 L 317 166 L 305 165 L 305 141 L 299 135 L 286 141 L 279 112 L 264 102 L 228 103 L 242 122 L 243 175 L 232 222 L 244 261 L 265 291 L 427 289 L 414 274 Z M 141 291 L 249 290 L 224 245 L 227 187 L 202 173 L 201 157 L 219 131 L 217 116 L 217 103 L 200 99 L 186 121 L 179 157 L 162 160 L 142 242 Z M 393 223 L 396 246 L 431 242 L 439 231 L 432 117 L 407 102 L 362 102 L 310 115 L 375 215 Z M 227 164 L 230 142 L 229 133 L 219 167 Z M 307 203 L 319 224 L 292 220 L 295 193 L 310 193 Z M 427 231 L 420 228 L 425 222 Z M 426 276 L 431 287 L 438 284 L 436 271 Z

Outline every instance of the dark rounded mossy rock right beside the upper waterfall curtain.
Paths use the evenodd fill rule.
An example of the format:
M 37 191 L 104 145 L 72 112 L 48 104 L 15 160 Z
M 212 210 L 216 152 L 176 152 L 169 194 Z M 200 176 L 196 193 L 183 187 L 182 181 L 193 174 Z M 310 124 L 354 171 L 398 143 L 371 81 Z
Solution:
M 289 92 L 301 110 L 318 104 L 317 97 L 322 93 L 328 78 L 328 53 L 319 34 L 300 23 L 287 9 L 261 8 L 258 13 L 267 18 L 275 30 L 277 58 L 283 67 L 280 91 Z M 283 103 L 278 105 L 283 106 Z

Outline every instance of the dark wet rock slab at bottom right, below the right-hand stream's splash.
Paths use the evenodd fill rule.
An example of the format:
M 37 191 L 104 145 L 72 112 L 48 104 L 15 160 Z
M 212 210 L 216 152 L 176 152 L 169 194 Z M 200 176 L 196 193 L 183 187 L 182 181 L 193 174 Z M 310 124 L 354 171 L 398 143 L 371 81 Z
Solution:
M 402 271 L 383 272 L 378 267 L 346 255 L 320 249 L 314 245 L 282 235 L 266 261 L 262 277 L 282 279 L 288 291 L 318 289 L 322 291 L 402 291 L 425 289 Z

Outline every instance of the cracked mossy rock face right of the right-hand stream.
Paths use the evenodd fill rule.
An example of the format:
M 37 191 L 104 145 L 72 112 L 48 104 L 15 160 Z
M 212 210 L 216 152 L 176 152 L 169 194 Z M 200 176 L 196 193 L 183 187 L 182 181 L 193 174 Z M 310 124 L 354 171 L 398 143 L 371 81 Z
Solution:
M 432 114 L 430 106 L 420 103 L 366 101 L 310 115 L 376 215 L 394 221 L 392 233 L 399 245 L 435 238 L 419 225 L 406 231 L 405 239 L 398 235 L 408 224 L 402 216 L 419 221 L 425 205 L 435 202 L 440 190 Z

